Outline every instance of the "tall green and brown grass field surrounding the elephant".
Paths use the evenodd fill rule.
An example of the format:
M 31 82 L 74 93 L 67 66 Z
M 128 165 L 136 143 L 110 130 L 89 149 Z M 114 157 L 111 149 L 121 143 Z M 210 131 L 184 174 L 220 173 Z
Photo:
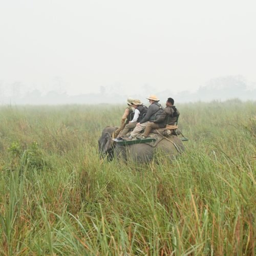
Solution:
M 256 102 L 178 105 L 170 164 L 99 159 L 124 105 L 0 108 L 0 254 L 254 255 Z

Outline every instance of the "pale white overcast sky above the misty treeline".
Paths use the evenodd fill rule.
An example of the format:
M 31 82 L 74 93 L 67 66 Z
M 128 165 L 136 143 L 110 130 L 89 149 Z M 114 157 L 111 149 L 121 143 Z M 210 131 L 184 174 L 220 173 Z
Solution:
M 256 1 L 0 0 L 2 84 L 180 92 L 255 70 Z

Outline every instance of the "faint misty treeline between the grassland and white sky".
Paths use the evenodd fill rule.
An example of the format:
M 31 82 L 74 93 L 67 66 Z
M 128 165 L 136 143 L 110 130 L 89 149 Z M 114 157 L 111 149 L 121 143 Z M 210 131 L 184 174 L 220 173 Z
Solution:
M 1 89 L 1 87 L 0 87 Z M 22 92 L 22 84 L 13 83 L 9 95 L 0 94 L 1 104 L 100 104 L 100 103 L 123 103 L 131 97 L 140 99 L 144 104 L 148 103 L 146 97 L 155 94 L 162 104 L 168 97 L 175 99 L 175 102 L 209 102 L 212 100 L 225 101 L 239 99 L 242 101 L 254 100 L 256 102 L 256 87 L 248 85 L 248 81 L 242 76 L 229 76 L 211 79 L 205 86 L 200 87 L 194 92 L 183 91 L 174 93 L 172 90 L 161 90 L 158 88 L 142 87 L 136 92 L 126 94 L 125 88 L 120 86 L 101 87 L 97 93 L 69 95 L 65 91 L 51 90 L 42 92 L 32 90 Z

